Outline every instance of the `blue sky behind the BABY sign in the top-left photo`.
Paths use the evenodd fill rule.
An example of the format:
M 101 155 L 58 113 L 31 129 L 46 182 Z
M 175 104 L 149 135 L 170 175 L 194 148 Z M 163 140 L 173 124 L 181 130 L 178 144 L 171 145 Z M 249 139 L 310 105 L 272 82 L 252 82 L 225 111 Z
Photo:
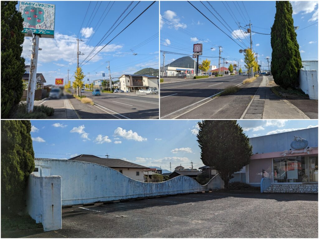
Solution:
M 41 3 L 44 1 L 33 2 Z M 79 51 L 85 54 L 79 57 L 79 62 L 81 63 L 98 44 L 105 33 L 107 33 L 108 29 L 115 23 L 116 19 L 118 19 L 122 12 L 129 6 L 130 1 L 50 1 L 49 3 L 55 4 L 56 7 L 55 38 L 40 38 L 39 47 L 42 48 L 42 50 L 39 51 L 37 72 L 44 75 L 47 81 L 46 84 L 55 84 L 55 78 L 67 79 L 68 69 L 70 69 L 70 77 L 76 70 L 77 47 L 75 44 L 77 42 L 76 37 L 78 33 L 80 32 L 79 38 L 83 40 L 83 42 L 80 42 Z M 115 26 L 136 4 L 137 6 L 122 23 L 117 26 L 114 32 L 102 42 L 101 46 L 94 51 L 94 54 L 151 3 L 152 1 L 141 1 L 139 4 L 137 4 L 137 1 L 133 2 Z M 86 11 L 87 14 L 85 17 Z M 124 73 L 132 74 L 145 67 L 158 69 L 158 12 L 159 3 L 156 2 L 119 36 L 111 41 L 99 54 L 86 63 L 82 67 L 86 75 L 85 82 L 86 79 L 89 78 L 88 72 L 90 72 L 91 82 L 92 80 L 102 79 L 102 72 L 107 73 L 106 77 L 108 77 L 108 69 L 106 69 L 107 61 L 110 61 L 112 77 L 118 77 Z M 90 18 L 91 15 L 92 18 Z M 104 18 L 104 16 L 106 17 Z M 82 22 L 83 25 L 81 27 Z M 112 28 L 112 30 L 113 29 L 114 28 Z M 30 64 L 29 50 L 31 50 L 31 42 L 29 40 L 31 40 L 30 37 L 25 37 L 23 44 L 22 54 L 26 58 L 26 65 Z M 86 59 L 86 61 L 92 56 L 93 54 Z M 74 77 L 71 80 L 74 80 Z

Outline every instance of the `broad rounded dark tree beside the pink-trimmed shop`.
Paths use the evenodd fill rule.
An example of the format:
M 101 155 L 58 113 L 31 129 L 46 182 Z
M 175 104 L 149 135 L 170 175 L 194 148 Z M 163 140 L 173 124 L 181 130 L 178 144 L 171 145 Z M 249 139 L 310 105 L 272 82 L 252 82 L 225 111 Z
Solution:
M 232 174 L 250 163 L 252 146 L 236 120 L 203 120 L 198 122 L 197 142 L 201 160 L 219 172 L 228 188 Z

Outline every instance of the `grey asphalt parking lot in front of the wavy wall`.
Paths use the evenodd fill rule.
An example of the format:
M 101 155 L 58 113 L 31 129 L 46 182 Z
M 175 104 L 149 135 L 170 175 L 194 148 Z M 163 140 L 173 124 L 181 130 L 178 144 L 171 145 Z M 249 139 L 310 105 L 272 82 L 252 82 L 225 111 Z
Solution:
M 318 237 L 318 194 L 207 192 L 62 211 L 62 229 L 29 237 Z

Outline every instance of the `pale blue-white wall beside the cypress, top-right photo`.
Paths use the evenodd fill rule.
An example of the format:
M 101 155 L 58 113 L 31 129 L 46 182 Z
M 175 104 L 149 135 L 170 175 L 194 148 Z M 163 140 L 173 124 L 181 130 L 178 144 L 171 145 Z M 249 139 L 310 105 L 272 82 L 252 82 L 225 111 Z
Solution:
M 318 63 L 318 62 L 317 62 Z M 299 87 L 310 99 L 318 99 L 318 71 L 303 70 L 299 72 Z

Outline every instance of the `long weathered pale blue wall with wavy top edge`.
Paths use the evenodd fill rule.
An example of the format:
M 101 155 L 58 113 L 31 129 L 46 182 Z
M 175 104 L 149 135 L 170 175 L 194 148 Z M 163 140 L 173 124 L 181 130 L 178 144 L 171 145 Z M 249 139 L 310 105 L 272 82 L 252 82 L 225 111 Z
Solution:
M 223 186 L 220 177 L 212 178 L 206 185 L 187 176 L 162 183 L 143 183 L 99 164 L 73 160 L 35 160 L 35 165 L 49 167 L 52 175 L 61 176 L 62 205 L 199 192 Z

